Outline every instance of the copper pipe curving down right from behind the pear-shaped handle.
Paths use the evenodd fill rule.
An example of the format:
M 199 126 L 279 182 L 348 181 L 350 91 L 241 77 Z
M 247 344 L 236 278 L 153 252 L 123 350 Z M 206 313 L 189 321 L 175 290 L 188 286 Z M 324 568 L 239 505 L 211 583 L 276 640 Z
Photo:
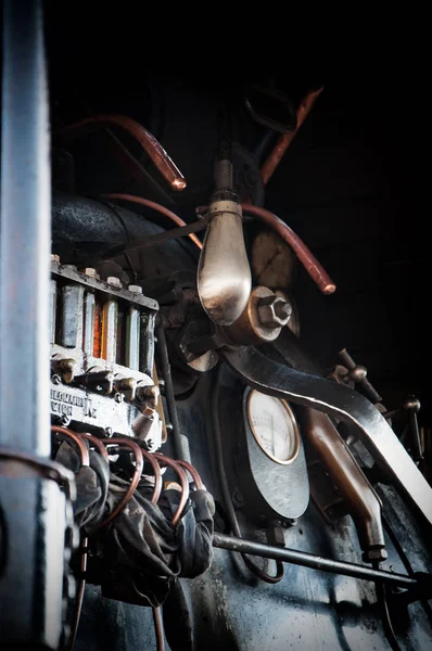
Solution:
M 322 265 L 317 260 L 315 255 L 309 251 L 306 244 L 294 233 L 293 230 L 282 219 L 277 217 L 270 210 L 266 208 L 259 208 L 252 204 L 242 204 L 242 208 L 245 213 L 250 213 L 255 217 L 258 217 L 262 221 L 267 224 L 272 230 L 275 230 L 284 240 L 296 254 L 297 258 L 306 269 L 307 273 L 318 285 L 323 294 L 332 294 L 336 285 L 331 280 Z

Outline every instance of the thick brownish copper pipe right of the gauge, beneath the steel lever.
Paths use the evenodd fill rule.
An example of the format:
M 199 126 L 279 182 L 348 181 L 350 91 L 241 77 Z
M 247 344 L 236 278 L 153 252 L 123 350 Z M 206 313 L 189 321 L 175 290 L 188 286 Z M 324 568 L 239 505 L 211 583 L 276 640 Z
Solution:
M 315 409 L 301 410 L 302 433 L 319 455 L 346 501 L 366 557 L 381 557 L 385 546 L 381 503 L 330 418 Z M 378 556 L 377 556 L 378 554 Z M 369 559 L 368 559 L 369 560 Z

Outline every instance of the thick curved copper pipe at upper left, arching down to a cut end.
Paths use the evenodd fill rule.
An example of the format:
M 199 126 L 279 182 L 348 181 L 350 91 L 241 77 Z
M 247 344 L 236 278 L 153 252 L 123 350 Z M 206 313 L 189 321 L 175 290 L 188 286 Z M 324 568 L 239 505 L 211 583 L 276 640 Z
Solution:
M 135 138 L 142 149 L 149 154 L 154 165 L 166 179 L 173 190 L 185 190 L 186 179 L 175 163 L 168 156 L 162 144 L 142 125 L 126 115 L 103 114 L 87 117 L 79 123 L 59 129 L 54 136 L 63 139 L 74 139 L 80 136 L 88 126 L 103 127 L 116 125 Z

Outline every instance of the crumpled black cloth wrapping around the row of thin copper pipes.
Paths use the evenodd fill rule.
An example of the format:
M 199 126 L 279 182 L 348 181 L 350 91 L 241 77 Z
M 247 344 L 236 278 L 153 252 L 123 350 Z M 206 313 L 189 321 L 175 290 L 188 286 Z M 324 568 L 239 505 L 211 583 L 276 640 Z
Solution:
M 79 458 L 67 443 L 60 447 L 56 460 L 76 473 L 75 518 L 90 535 L 87 579 L 101 585 L 105 597 L 161 605 L 177 577 L 193 578 L 209 567 L 215 513 L 209 493 L 192 490 L 174 527 L 180 493 L 163 490 L 153 505 L 152 487 L 141 482 L 113 522 L 91 535 L 123 497 L 128 482 L 113 472 L 110 475 L 106 461 L 97 452 L 90 452 L 90 468 L 79 468 Z

